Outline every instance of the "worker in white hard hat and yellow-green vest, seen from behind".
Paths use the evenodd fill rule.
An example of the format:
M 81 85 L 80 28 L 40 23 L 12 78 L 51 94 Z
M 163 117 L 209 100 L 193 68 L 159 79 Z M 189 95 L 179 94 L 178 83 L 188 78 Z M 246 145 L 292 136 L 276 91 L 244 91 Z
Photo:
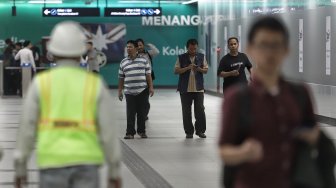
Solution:
M 111 96 L 99 76 L 79 67 L 86 51 L 80 26 L 57 24 L 48 51 L 58 66 L 36 76 L 28 90 L 14 152 L 15 182 L 27 183 L 27 160 L 37 138 L 41 188 L 98 188 L 106 160 L 109 187 L 119 188 L 120 146 Z

